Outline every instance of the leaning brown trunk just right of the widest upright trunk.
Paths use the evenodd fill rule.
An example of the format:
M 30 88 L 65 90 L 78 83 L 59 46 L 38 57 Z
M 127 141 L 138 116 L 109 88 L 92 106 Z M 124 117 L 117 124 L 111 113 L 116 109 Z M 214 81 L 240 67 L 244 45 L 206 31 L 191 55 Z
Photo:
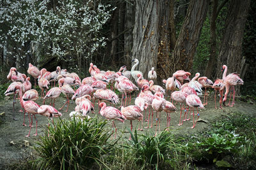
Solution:
M 185 71 L 191 69 L 208 6 L 209 0 L 191 0 L 189 2 L 188 12 L 170 60 L 172 73 L 179 69 Z

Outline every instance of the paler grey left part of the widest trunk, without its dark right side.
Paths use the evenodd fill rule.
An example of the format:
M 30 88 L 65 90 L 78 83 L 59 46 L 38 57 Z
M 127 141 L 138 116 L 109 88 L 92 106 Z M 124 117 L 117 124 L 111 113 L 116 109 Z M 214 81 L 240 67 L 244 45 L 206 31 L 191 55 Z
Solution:
M 132 57 L 140 61 L 136 69 L 145 77 L 157 64 L 157 17 L 157 1 L 136 0 Z

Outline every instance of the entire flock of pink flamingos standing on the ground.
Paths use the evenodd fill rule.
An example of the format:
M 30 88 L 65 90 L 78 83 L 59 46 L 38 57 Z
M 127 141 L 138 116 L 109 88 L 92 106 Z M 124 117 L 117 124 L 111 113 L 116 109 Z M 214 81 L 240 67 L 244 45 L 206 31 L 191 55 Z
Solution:
M 159 126 L 159 131 L 161 131 L 160 124 L 162 111 L 166 112 L 167 115 L 166 131 L 170 129 L 171 113 L 175 113 L 177 110 L 173 101 L 180 104 L 178 125 L 183 125 L 185 121 L 190 120 L 190 115 L 193 115 L 193 125 L 191 126 L 193 129 L 200 117 L 198 108 L 205 108 L 208 103 L 207 88 L 213 88 L 216 92 L 220 92 L 220 108 L 222 109 L 223 107 L 221 104 L 225 104 L 227 101 L 230 89 L 232 90 L 232 92 L 230 92 L 232 103 L 230 104 L 229 100 L 228 106 L 234 106 L 235 86 L 243 85 L 244 83 L 236 73 L 231 73 L 226 76 L 227 66 L 223 65 L 223 78 L 214 81 L 214 83 L 205 76 L 200 77 L 200 73 L 196 73 L 190 80 L 189 76 L 191 76 L 191 73 L 179 70 L 173 73 L 169 78 L 166 78 L 166 80 L 163 80 L 163 83 L 165 84 L 164 89 L 160 85 L 154 84 L 154 81 L 157 79 L 157 73 L 154 70 L 154 67 L 148 72 L 148 80 L 150 80 L 148 81 L 143 78 L 143 73 L 141 73 L 141 71 L 135 70 L 136 66 L 139 64 L 139 60 L 133 59 L 132 62 L 135 62 L 135 64 L 132 66 L 131 71 L 127 71 L 127 67 L 122 66 L 117 72 L 101 71 L 97 66 L 93 65 L 93 63 L 90 63 L 90 68 L 88 70 L 90 76 L 83 80 L 81 80 L 76 73 L 68 73 L 67 69 L 61 70 L 60 66 L 56 67 L 56 71 L 49 72 L 45 68 L 40 70 L 38 67 L 29 63 L 28 74 L 35 79 L 34 88 L 37 83 L 42 90 L 41 97 L 44 101 L 41 106 L 36 103 L 36 100 L 39 97 L 38 92 L 35 89 L 32 89 L 29 76 L 19 73 L 15 67 L 12 67 L 7 78 L 8 80 L 13 81 L 13 83 L 10 84 L 4 94 L 6 96 L 13 95 L 13 119 L 15 119 L 14 104 L 16 103 L 15 96 L 17 94 L 19 94 L 20 106 L 24 110 L 24 120 L 22 125 L 26 126 L 25 113 L 28 113 L 29 117 L 29 132 L 26 137 L 30 136 L 31 127 L 33 126 L 33 117 L 36 121 L 36 132 L 34 134 L 36 136 L 38 125 L 38 120 L 36 120 L 37 115 L 42 115 L 51 119 L 53 117 L 61 117 L 62 113 L 59 111 L 67 104 L 67 110 L 65 111 L 67 112 L 71 99 L 76 100 L 76 108 L 72 109 L 70 117 L 81 119 L 84 117 L 90 118 L 89 114 L 95 113 L 95 100 L 97 100 L 99 114 L 107 120 L 112 120 L 115 136 L 115 120 L 120 122 L 130 120 L 131 131 L 132 121 L 138 120 L 141 122 L 138 131 L 143 131 L 143 128 L 147 129 L 153 127 L 154 111 L 156 111 L 155 135 L 157 135 L 157 126 Z M 131 78 L 134 79 L 136 84 L 132 83 Z M 49 82 L 53 81 L 54 85 L 50 85 Z M 184 81 L 188 82 L 184 83 Z M 55 87 L 56 82 L 58 83 L 58 87 Z M 205 89 L 205 92 L 202 88 Z M 225 89 L 226 92 L 223 98 Z M 115 93 L 116 90 L 122 93 L 121 100 Z M 170 99 L 167 96 L 168 90 L 171 91 Z M 134 100 L 134 104 L 132 104 L 131 93 L 136 93 L 136 91 L 138 91 L 138 95 L 136 95 L 137 97 Z M 202 92 L 204 92 L 204 103 L 202 103 L 199 97 L 202 95 Z M 66 97 L 66 102 L 60 109 L 56 109 L 54 108 L 55 100 L 60 97 L 61 93 Z M 45 104 L 46 99 L 51 99 L 49 105 Z M 217 109 L 216 93 L 214 99 L 215 108 Z M 107 106 L 107 104 L 110 104 L 111 106 Z M 196 108 L 196 114 L 194 108 Z M 193 113 L 188 113 L 189 109 L 192 110 Z M 145 114 L 143 113 L 144 111 Z M 182 115 L 182 113 L 184 113 L 184 115 Z M 188 115 L 189 118 L 186 118 Z M 144 122 L 147 122 L 147 127 L 143 127 Z M 150 122 L 151 125 L 149 126 Z

